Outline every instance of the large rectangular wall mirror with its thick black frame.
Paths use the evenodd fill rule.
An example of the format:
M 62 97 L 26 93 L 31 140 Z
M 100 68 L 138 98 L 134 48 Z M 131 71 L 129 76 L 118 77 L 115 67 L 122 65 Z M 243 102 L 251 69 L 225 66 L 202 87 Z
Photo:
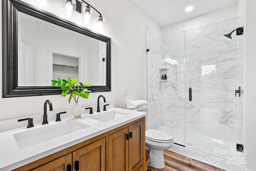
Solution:
M 21 25 L 22 23 L 26 24 Z M 29 30 L 32 25 L 38 26 L 38 28 Z M 64 32 L 64 36 L 53 37 L 53 40 L 42 40 L 42 37 L 47 36 L 44 35 L 45 33 L 38 31 L 40 28 L 48 30 L 48 37 L 53 37 L 53 35 L 60 32 Z M 22 32 L 24 30 L 30 35 Z M 34 36 L 32 34 L 34 30 L 38 31 L 34 35 L 41 35 L 41 37 Z M 54 32 L 54 30 L 58 31 Z M 71 38 L 67 37 L 68 34 L 71 34 Z M 62 52 L 60 48 L 50 46 L 51 42 L 53 42 L 52 44 L 58 44 L 54 40 L 59 40 L 59 44 L 63 43 L 63 40 L 60 40 L 62 37 L 68 40 L 66 43 L 68 48 L 63 44 L 60 45 L 63 46 L 62 49 L 65 49 L 66 52 Z M 72 38 L 74 38 L 74 42 L 71 41 Z M 32 39 L 38 42 L 31 42 Z M 48 43 L 44 41 L 48 41 Z M 24 42 L 26 42 L 25 46 Z M 82 48 L 74 45 L 75 42 L 79 42 Z M 48 46 L 44 47 L 46 44 Z M 28 49 L 26 49 L 27 45 Z M 32 46 L 32 51 L 30 46 Z M 23 47 L 25 47 L 24 53 L 22 51 Z M 87 47 L 87 49 L 84 47 Z M 76 49 L 75 52 L 70 51 L 73 49 Z M 78 52 L 81 49 L 84 49 L 87 54 L 84 54 L 83 51 Z M 95 50 L 95 52 L 92 50 Z M 67 72 L 78 74 L 77 76 L 79 76 L 81 82 L 91 84 L 88 89 L 92 92 L 111 91 L 111 38 L 80 27 L 25 2 L 19 0 L 2 1 L 2 52 L 2 97 L 60 94 L 61 88 L 50 86 L 49 82 L 50 80 L 56 80 L 56 77 L 60 74 L 66 74 L 63 76 L 67 78 Z M 22 53 L 26 55 L 33 54 L 32 69 L 23 67 L 29 66 L 29 63 L 32 62 L 26 55 L 25 58 L 21 58 Z M 94 58 L 94 54 L 101 55 Z M 61 59 L 63 64 L 59 64 L 58 59 Z M 63 62 L 64 59 L 67 61 Z M 71 64 L 72 62 L 70 63 L 69 60 L 73 59 L 77 62 Z M 47 65 L 44 66 L 43 63 L 47 63 Z M 40 67 L 42 68 L 40 69 Z M 31 73 L 36 74 L 38 71 L 41 71 L 41 73 L 31 76 Z M 27 76 L 23 72 L 27 73 Z M 32 81 L 28 79 L 32 77 L 34 78 Z M 20 82 L 21 80 L 22 82 Z M 41 83 L 42 80 L 45 81 Z

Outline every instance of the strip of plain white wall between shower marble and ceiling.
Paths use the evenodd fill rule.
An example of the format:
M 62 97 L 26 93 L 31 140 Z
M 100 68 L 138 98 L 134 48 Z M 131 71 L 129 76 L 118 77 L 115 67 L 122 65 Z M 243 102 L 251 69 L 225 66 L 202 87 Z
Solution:
M 238 6 L 234 4 L 232 6 L 210 12 L 208 14 L 192 18 L 177 24 L 172 24 L 162 28 L 162 36 L 168 36 L 174 33 L 182 32 L 185 30 L 191 30 L 194 28 L 206 26 L 208 24 L 213 24 L 217 22 L 222 22 L 224 20 L 229 20 L 231 18 L 237 17 Z

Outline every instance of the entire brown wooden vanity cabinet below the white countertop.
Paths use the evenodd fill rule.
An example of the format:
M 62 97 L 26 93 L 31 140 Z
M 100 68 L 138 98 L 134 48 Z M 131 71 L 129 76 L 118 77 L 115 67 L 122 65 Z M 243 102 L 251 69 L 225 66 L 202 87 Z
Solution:
M 142 117 L 14 171 L 145 171 L 145 157 Z

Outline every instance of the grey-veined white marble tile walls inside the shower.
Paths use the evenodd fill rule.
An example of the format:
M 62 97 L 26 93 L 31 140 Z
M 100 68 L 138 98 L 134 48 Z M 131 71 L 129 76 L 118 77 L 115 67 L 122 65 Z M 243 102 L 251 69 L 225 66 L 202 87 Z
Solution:
M 147 42 L 148 128 L 186 127 L 217 139 L 242 140 L 242 98 L 235 96 L 242 86 L 241 37 L 235 32 L 233 39 L 223 36 L 236 29 L 240 20 Z M 162 74 L 167 81 L 160 80 Z

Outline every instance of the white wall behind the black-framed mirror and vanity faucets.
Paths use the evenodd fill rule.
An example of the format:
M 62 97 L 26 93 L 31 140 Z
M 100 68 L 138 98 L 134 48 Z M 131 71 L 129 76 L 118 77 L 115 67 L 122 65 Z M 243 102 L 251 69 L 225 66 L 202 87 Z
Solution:
M 26 0 L 34 4 L 34 0 Z M 61 0 L 52 0 L 54 3 Z M 144 12 L 131 0 L 88 0 L 92 6 L 102 13 L 106 19 L 104 34 L 112 38 L 112 91 L 90 93 L 89 99 L 81 99 L 82 106 L 97 103 L 98 95 L 106 97 L 107 102 L 114 101 L 116 107 L 125 107 L 127 100 L 146 98 L 146 59 L 145 59 L 145 23 L 154 30 L 161 32 Z M 0 32 L 2 33 L 2 3 L 0 4 Z M 61 9 L 61 6 L 60 8 Z M 50 9 L 62 15 L 61 11 L 53 7 Z M 64 18 L 64 16 L 61 16 Z M 73 18 L 78 24 L 80 16 Z M 0 39 L 2 40 L 2 34 Z M 2 41 L 0 42 L 0 54 L 2 54 Z M 0 85 L 2 85 L 2 59 L 0 60 Z M 126 88 L 126 95 L 122 96 L 122 88 Z M 2 97 L 2 91 L 0 91 Z M 68 96 L 44 95 L 33 97 L 0 98 L 0 121 L 43 114 L 43 105 L 46 99 L 50 99 L 54 111 L 72 109 L 74 101 L 68 103 Z M 102 101 L 102 100 L 101 100 Z

